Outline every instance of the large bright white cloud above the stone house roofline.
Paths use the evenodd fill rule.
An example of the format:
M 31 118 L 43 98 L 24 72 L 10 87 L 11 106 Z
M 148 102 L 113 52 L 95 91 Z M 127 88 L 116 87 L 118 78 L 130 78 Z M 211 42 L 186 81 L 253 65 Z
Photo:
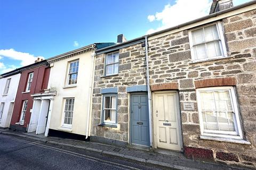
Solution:
M 173 5 L 167 4 L 163 11 L 156 12 L 155 15 L 148 15 L 150 22 L 161 21 L 162 24 L 156 29 L 148 30 L 147 33 L 163 30 L 208 15 L 211 4 L 212 0 L 176 0 Z

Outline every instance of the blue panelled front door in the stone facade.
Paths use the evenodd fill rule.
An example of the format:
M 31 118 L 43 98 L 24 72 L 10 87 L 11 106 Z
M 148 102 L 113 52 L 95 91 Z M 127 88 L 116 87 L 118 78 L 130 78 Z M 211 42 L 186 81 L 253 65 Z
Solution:
M 131 95 L 131 142 L 149 146 L 147 95 Z

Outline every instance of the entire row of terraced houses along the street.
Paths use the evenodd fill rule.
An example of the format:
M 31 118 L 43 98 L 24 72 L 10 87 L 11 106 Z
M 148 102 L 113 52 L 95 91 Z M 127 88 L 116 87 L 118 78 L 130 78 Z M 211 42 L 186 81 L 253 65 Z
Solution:
M 0 126 L 256 167 L 256 1 L 1 75 Z M 90 138 L 89 138 L 90 137 Z

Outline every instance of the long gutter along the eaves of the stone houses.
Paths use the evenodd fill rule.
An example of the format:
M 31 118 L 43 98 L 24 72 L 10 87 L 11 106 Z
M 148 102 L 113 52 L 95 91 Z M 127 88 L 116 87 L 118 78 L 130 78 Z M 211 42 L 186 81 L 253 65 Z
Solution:
M 185 27 L 185 26 L 187 26 L 187 25 L 189 25 L 189 24 L 193 24 L 193 23 L 196 23 L 196 22 L 199 22 L 199 21 L 203 21 L 203 20 L 206 20 L 206 19 L 209 19 L 209 18 L 213 18 L 213 17 L 215 17 L 215 16 L 218 16 L 218 15 L 221 15 L 221 14 L 225 14 L 225 13 L 228 13 L 228 12 L 230 12 L 230 11 L 235 11 L 235 10 L 238 10 L 239 8 L 243 8 L 243 7 L 246 7 L 246 6 L 250 6 L 250 5 L 253 5 L 253 4 L 255 4 L 255 3 L 256 3 L 256 0 L 253 0 L 253 1 L 250 1 L 250 2 L 247 2 L 247 3 L 244 3 L 244 4 L 241 4 L 241 5 L 237 5 L 237 6 L 234 6 L 234 7 L 230 7 L 230 8 L 227 8 L 226 10 L 222 10 L 222 11 L 219 11 L 219 12 L 215 12 L 215 13 L 212 13 L 212 14 L 209 14 L 209 15 L 206 15 L 206 16 L 203 16 L 203 17 L 201 17 L 201 18 L 198 18 L 198 19 L 195 19 L 195 20 L 192 20 L 192 21 L 188 21 L 188 22 L 185 22 L 185 23 L 176 25 L 176 26 L 171 27 L 171 28 L 167 28 L 167 29 L 164 29 L 164 30 L 161 30 L 161 31 L 157 31 L 157 32 L 154 32 L 154 33 L 150 33 L 150 34 L 148 34 L 148 35 L 145 35 L 145 36 L 142 36 L 142 37 L 138 37 L 138 38 L 135 38 L 135 39 L 126 41 L 126 42 L 124 42 L 124 43 L 120 43 L 120 44 L 116 44 L 116 45 L 113 45 L 113 46 L 101 48 L 101 49 L 95 50 L 95 52 L 98 53 L 98 52 L 101 52 L 101 51 L 103 51 L 103 50 L 107 50 L 107 49 L 111 49 L 111 48 L 123 46 L 123 45 L 125 45 L 125 44 L 130 44 L 130 43 L 133 43 L 134 41 L 143 40 L 143 39 L 145 39 L 146 36 L 147 36 L 147 37 L 152 37 L 152 36 L 155 36 L 155 35 L 164 33 L 164 32 L 168 32 L 168 31 L 171 31 L 171 30 L 174 30 L 174 29 L 178 29 L 178 28 L 181 28 L 181 27 Z

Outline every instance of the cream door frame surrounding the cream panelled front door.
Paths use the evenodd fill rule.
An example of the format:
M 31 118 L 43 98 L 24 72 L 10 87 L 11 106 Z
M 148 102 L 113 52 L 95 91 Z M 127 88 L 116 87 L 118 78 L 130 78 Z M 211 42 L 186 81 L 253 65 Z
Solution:
M 155 102 L 156 99 L 155 94 L 168 94 L 175 93 L 177 100 L 177 114 L 178 114 L 178 126 L 179 126 L 179 140 L 181 145 L 181 151 L 183 151 L 183 140 L 182 140 L 182 130 L 181 130 L 181 112 L 180 112 L 180 98 L 179 92 L 177 90 L 164 90 L 164 91 L 153 91 L 153 122 L 154 122 L 154 148 L 157 149 L 157 119 L 156 119 L 156 111 L 155 111 Z

